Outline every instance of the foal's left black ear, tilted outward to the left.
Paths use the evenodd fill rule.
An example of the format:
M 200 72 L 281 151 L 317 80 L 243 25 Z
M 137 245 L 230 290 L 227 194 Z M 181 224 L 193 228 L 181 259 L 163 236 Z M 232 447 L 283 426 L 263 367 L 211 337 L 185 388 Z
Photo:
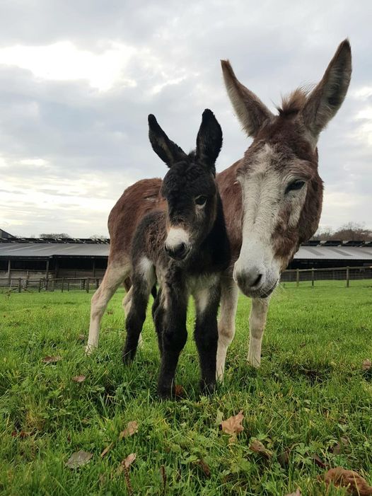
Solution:
M 168 167 L 172 167 L 173 163 L 187 158 L 187 155 L 180 146 L 168 138 L 163 129 L 158 125 L 155 115 L 152 114 L 149 115 L 149 139 L 153 151 L 155 151 Z

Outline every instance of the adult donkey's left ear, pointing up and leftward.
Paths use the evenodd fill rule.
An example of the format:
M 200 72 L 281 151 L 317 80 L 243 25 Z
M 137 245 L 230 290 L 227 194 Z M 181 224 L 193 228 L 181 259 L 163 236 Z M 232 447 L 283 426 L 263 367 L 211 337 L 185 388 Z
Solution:
M 221 66 L 226 90 L 236 115 L 248 136 L 255 137 L 260 127 L 274 115 L 255 93 L 236 79 L 228 60 L 221 60 Z

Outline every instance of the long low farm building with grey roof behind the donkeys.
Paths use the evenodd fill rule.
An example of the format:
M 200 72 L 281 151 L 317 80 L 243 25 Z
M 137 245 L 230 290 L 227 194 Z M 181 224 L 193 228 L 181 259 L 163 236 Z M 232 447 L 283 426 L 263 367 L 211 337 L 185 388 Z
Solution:
M 109 239 L 0 238 L 0 279 L 102 279 Z M 289 269 L 371 267 L 372 242 L 309 241 Z

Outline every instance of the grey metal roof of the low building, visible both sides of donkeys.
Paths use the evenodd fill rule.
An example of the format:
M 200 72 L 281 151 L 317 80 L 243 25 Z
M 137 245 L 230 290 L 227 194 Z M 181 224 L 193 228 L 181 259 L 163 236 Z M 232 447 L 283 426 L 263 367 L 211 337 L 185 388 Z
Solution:
M 107 257 L 103 243 L 0 243 L 0 258 Z M 372 246 L 301 246 L 295 259 L 372 260 Z

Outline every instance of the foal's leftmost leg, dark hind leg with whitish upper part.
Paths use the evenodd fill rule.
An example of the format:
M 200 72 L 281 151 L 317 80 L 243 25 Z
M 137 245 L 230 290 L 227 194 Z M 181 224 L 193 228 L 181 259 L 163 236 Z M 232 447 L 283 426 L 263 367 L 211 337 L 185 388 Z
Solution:
M 130 299 L 129 311 L 125 321 L 127 338 L 122 352 L 123 362 L 130 362 L 136 354 L 142 326 L 146 318 L 151 288 L 155 283 L 155 270 L 150 260 L 144 258 L 133 270 L 133 285 L 127 296 Z

